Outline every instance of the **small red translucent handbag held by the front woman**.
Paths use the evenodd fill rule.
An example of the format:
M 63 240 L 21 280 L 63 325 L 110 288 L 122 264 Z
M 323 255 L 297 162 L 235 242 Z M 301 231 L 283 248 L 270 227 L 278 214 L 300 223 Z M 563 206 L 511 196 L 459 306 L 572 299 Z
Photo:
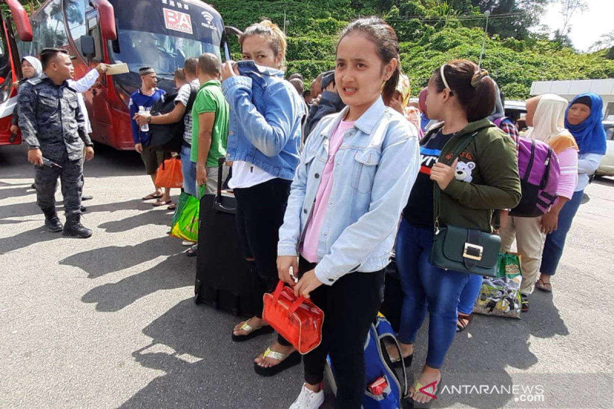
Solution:
M 293 289 L 279 280 L 273 294 L 264 297 L 264 319 L 286 338 L 300 354 L 306 354 L 322 342 L 324 312 L 305 297 L 294 295 Z

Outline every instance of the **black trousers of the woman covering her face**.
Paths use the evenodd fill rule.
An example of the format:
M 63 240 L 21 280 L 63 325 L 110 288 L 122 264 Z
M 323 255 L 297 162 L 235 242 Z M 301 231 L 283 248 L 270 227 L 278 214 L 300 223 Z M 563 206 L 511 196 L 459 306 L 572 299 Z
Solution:
M 237 188 L 236 224 L 241 246 L 247 259 L 254 259 L 253 277 L 255 316 L 262 318 L 262 296 L 271 292 L 279 281 L 277 242 L 292 180 L 272 179 L 251 188 Z M 290 345 L 278 337 L 282 345 Z

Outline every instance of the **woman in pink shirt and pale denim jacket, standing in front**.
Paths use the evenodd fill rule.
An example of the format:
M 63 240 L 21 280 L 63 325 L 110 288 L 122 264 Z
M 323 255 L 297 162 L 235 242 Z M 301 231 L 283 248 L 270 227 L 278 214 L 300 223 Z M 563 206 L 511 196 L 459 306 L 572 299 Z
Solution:
M 384 105 L 398 77 L 394 29 L 377 17 L 350 23 L 335 68 L 348 106 L 322 118 L 308 137 L 279 229 L 279 278 L 311 297 L 325 316 L 322 343 L 303 356 L 305 384 L 292 409 L 324 401 L 327 354 L 335 369 L 335 408 L 362 404 L 363 344 L 419 167 L 418 129 Z

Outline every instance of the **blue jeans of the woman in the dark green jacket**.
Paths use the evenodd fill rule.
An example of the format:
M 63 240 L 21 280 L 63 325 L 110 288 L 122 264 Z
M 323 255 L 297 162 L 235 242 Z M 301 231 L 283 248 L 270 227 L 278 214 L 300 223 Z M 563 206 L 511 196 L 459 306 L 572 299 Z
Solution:
M 429 351 L 426 364 L 441 368 L 456 335 L 456 308 L 469 273 L 443 270 L 429 263 L 433 229 L 414 227 L 405 219 L 397 236 L 397 268 L 405 293 L 401 309 L 399 342 L 416 340 L 429 310 Z

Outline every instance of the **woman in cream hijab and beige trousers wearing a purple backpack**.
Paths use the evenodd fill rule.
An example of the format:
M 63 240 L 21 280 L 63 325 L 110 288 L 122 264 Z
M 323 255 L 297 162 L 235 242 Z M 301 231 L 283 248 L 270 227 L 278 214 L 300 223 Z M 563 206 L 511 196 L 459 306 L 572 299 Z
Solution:
M 561 177 L 557 189 L 558 200 L 548 212 L 534 218 L 508 216 L 501 231 L 502 251 L 510 251 L 516 238 L 518 253 L 521 254 L 523 312 L 529 309 L 528 296 L 535 288 L 546 234 L 556 230 L 559 212 L 573 196 L 578 182 L 578 145 L 563 123 L 569 102 L 555 94 L 543 94 L 527 99 L 526 104 L 526 121 L 530 128 L 524 137 L 541 140 L 552 147 L 559 159 Z

